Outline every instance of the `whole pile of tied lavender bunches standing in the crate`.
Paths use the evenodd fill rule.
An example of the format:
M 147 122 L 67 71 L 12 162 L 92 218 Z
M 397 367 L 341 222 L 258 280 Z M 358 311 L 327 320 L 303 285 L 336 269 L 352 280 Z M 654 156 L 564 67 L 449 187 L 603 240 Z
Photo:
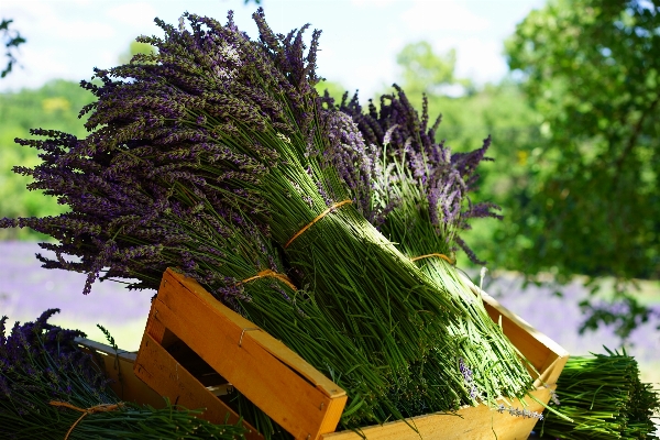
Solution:
M 405 161 L 410 142 L 389 139 L 424 130 L 388 130 L 387 141 L 364 146 L 351 118 L 315 90 L 320 32 L 305 53 L 307 26 L 275 35 L 263 11 L 254 19 L 258 41 L 231 14 L 226 25 L 194 14 L 178 29 L 156 20 L 165 38 L 139 38 L 156 54 L 82 82 L 98 98 L 81 112 L 86 139 L 34 130 L 46 139 L 18 140 L 43 163 L 15 170 L 69 212 L 0 227 L 56 239 L 41 244 L 56 257 L 37 257 L 87 273 L 85 294 L 98 278 L 157 288 L 163 271 L 178 267 L 343 387 L 343 428 L 526 395 L 531 378 L 480 298 L 453 267 L 410 260 L 417 246 L 447 252 L 458 242 L 448 231 L 483 212 L 469 205 L 465 180 L 481 153 L 448 165 L 457 179 L 448 185 L 461 193 L 418 186 Z M 367 154 L 385 144 L 403 150 Z M 427 190 L 454 199 L 428 208 L 408 199 Z M 465 204 L 441 227 L 433 220 L 431 209 Z M 419 231 L 430 235 L 415 232 L 409 243 L 376 228 L 394 238 L 407 218 L 427 217 Z

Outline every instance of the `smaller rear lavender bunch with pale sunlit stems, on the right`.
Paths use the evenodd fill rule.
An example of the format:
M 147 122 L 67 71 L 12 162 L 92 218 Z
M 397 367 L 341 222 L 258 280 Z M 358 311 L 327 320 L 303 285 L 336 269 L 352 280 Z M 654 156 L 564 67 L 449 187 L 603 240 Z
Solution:
M 363 112 L 356 95 L 351 101 L 344 95 L 339 106 L 324 98 L 328 111 L 351 117 L 343 121 L 341 132 L 356 133 L 341 136 L 333 161 L 346 182 L 358 183 L 350 187 L 356 188 L 354 194 L 365 200 L 359 205 L 365 216 L 380 210 L 382 216 L 372 216 L 372 222 L 398 243 L 405 255 L 417 261 L 439 290 L 452 294 L 462 319 L 451 322 L 447 330 L 464 342 L 455 353 L 455 362 L 472 402 L 494 402 L 501 395 L 522 397 L 531 387 L 531 378 L 518 351 L 451 264 L 457 245 L 476 261 L 459 237 L 460 231 L 470 228 L 469 220 L 498 217 L 493 212 L 494 205 L 473 204 L 469 197 L 479 178 L 475 170 L 491 141 L 486 139 L 481 148 L 471 153 L 452 154 L 444 143 L 435 141 L 440 118 L 429 127 L 426 97 L 420 118 L 404 91 L 395 88 L 396 95 L 381 98 L 380 111 L 370 103 L 369 112 Z M 354 154 L 358 151 L 372 153 L 363 157 Z M 365 164 L 371 166 L 366 168 Z M 371 178 L 359 179 L 354 175 Z M 481 348 L 479 355 L 473 346 Z

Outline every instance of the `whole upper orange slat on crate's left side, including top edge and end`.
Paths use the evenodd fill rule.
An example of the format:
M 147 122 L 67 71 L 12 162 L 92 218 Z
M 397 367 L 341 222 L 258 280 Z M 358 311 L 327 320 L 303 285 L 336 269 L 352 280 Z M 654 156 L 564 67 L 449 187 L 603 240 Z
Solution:
M 168 270 L 151 321 L 176 334 L 295 438 L 317 439 L 337 428 L 345 392 L 266 332 L 248 330 L 254 323 L 197 283 Z

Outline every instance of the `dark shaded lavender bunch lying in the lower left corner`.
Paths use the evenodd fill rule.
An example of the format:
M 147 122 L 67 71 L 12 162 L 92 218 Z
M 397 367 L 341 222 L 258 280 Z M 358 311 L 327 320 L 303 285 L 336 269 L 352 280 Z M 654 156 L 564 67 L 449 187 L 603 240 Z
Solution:
M 0 432 L 10 439 L 240 439 L 240 425 L 212 425 L 200 411 L 120 402 L 79 330 L 50 324 L 58 309 L 16 322 L 0 319 Z

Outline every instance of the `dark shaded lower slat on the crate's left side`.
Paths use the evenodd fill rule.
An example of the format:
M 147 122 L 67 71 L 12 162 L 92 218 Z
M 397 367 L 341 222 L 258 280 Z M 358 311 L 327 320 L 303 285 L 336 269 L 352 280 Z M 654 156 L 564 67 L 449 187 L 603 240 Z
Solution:
M 140 352 L 134 363 L 135 377 L 150 384 L 160 395 L 168 397 L 172 404 L 189 409 L 202 409 L 200 418 L 212 424 L 235 425 L 240 417 L 233 409 L 209 392 L 197 378 L 167 353 L 152 337 L 144 334 Z M 246 438 L 263 440 L 263 437 L 250 424 L 243 421 L 248 429 Z

